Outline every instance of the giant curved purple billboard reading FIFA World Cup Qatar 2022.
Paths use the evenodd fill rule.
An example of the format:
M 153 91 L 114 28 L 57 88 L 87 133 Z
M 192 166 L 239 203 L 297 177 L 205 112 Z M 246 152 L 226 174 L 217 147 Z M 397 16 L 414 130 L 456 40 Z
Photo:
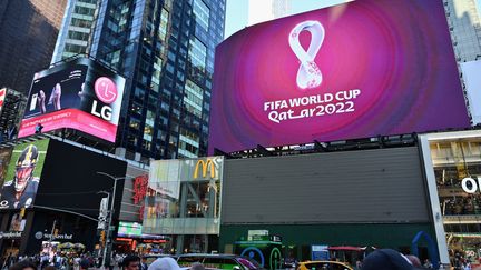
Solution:
M 209 152 L 469 127 L 439 0 L 362 0 L 216 49 Z

